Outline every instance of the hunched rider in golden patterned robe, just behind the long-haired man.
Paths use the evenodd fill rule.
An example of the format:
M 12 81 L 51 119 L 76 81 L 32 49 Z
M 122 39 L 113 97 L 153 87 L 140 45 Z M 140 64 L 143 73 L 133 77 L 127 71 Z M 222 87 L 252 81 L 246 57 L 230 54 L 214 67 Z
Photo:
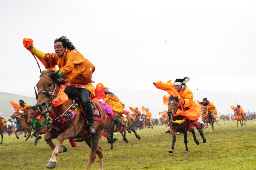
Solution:
M 105 87 L 102 83 L 98 83 L 97 87 L 105 88 L 107 90 L 107 92 L 105 93 L 105 99 L 103 100 L 103 102 L 107 103 L 108 106 L 112 108 L 114 113 L 113 120 L 115 121 L 115 123 L 117 125 L 123 126 L 123 130 L 122 130 L 123 132 L 127 130 L 130 133 L 130 130 L 128 129 L 128 127 L 123 123 L 123 121 L 127 121 L 127 118 L 122 116 L 124 114 L 125 104 L 123 104 L 113 92 L 108 91 L 109 88 Z M 122 118 L 123 121 L 120 118 Z

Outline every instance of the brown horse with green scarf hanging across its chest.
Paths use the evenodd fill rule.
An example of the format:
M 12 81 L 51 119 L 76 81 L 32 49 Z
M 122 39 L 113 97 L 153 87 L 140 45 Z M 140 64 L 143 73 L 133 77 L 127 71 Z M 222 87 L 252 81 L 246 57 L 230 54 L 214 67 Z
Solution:
M 33 127 L 33 129 L 36 129 L 36 131 L 33 133 L 33 136 L 36 138 L 34 145 L 37 145 L 37 141 L 42 138 L 42 136 L 39 135 L 45 134 L 49 130 L 46 127 L 48 125 L 48 121 L 46 122 L 45 115 L 39 112 L 35 106 L 33 106 L 30 107 L 28 111 L 27 122 Z

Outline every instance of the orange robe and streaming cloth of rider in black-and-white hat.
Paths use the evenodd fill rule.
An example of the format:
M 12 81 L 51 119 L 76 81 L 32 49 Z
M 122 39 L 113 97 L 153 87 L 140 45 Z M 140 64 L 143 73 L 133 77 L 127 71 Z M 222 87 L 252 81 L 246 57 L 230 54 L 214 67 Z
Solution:
M 175 89 L 175 86 L 173 83 L 171 83 L 172 80 L 169 80 L 168 82 L 164 83 L 161 82 L 160 80 L 156 82 L 155 87 L 164 91 L 167 91 L 169 95 L 173 95 L 174 97 L 178 96 L 180 101 L 179 101 L 179 106 L 180 102 L 184 101 L 184 107 L 188 107 L 189 109 L 186 111 L 178 109 L 177 112 L 173 116 L 186 116 L 189 120 L 193 121 L 201 116 L 201 109 L 200 106 L 193 101 L 193 93 L 192 91 L 186 87 L 185 89 L 177 92 Z

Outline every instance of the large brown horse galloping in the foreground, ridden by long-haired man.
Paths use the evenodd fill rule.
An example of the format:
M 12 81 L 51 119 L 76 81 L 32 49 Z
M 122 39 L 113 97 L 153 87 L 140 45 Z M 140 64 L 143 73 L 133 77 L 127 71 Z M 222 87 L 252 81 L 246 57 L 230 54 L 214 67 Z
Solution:
M 52 125 L 50 130 L 44 135 L 45 141 L 52 149 L 52 157 L 46 167 L 55 168 L 58 153 L 67 151 L 65 146 L 61 146 L 64 140 L 70 139 L 70 144 L 75 147 L 76 145 L 73 139 L 79 139 L 80 142 L 85 141 L 86 144 L 91 148 L 86 170 L 90 169 L 96 158 L 96 154 L 99 157 L 99 169 L 102 170 L 103 154 L 102 148 L 98 145 L 98 142 L 107 123 L 105 109 L 103 106 L 97 103 L 98 109 L 102 114 L 102 121 L 95 121 L 95 133 L 88 134 L 87 131 L 85 132 L 85 117 L 83 116 L 83 113 L 81 113 L 79 116 L 79 110 L 81 107 L 79 104 L 75 103 L 75 99 L 79 96 L 79 94 L 74 90 L 75 87 L 66 87 L 64 92 L 68 95 L 68 100 L 59 106 L 52 106 L 52 99 L 57 96 L 57 93 L 60 90 L 59 86 L 65 83 L 64 81 L 57 80 L 57 74 L 58 71 L 44 70 L 41 72 L 40 79 L 36 84 L 38 89 L 38 94 L 36 93 L 36 107 L 40 112 L 48 112 L 50 114 L 49 119 L 51 120 L 50 123 Z M 44 91 L 42 89 L 44 89 Z M 52 139 L 56 138 L 57 144 L 55 146 Z M 85 153 L 83 152 L 83 154 Z

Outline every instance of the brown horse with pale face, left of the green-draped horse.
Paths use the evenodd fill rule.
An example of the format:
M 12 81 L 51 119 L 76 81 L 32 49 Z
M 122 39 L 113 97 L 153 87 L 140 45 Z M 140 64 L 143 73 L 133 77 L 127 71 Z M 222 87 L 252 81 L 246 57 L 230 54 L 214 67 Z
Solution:
M 17 130 L 14 131 L 15 136 L 17 139 L 20 139 L 17 135 L 17 132 L 20 131 L 24 131 L 24 137 L 26 138 L 25 142 L 27 142 L 27 140 L 29 139 L 29 137 L 31 136 L 31 132 L 28 128 L 28 124 L 25 121 L 25 118 L 23 117 L 23 115 L 19 114 L 19 109 L 14 109 L 15 111 L 11 114 L 11 119 L 14 120 L 16 118 L 16 125 L 17 125 Z M 28 132 L 28 135 L 27 135 Z

